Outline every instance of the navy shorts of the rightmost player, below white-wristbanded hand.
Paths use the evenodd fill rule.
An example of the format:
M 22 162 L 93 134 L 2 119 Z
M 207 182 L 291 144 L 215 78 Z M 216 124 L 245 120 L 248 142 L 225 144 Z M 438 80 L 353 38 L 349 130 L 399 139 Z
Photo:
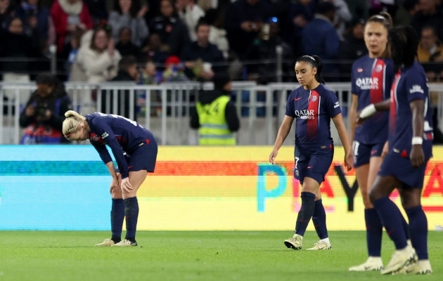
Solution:
M 378 176 L 394 176 L 403 183 L 403 188 L 423 188 L 428 159 L 416 169 L 413 168 L 409 157 L 402 157 L 400 153 L 390 150 L 383 159 Z

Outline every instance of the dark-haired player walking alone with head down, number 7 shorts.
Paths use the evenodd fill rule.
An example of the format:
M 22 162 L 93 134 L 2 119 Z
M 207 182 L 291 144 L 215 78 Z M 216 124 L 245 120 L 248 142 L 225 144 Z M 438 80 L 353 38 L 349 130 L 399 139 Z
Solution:
M 320 185 L 333 160 L 334 145 L 330 137 L 330 119 L 333 119 L 345 148 L 345 165 L 352 167 L 352 148 L 347 139 L 340 105 L 333 91 L 324 85 L 321 60 L 316 55 L 304 55 L 295 63 L 295 74 L 301 87 L 292 91 L 286 104 L 286 113 L 278 130 L 269 162 L 274 164 L 278 149 L 288 136 L 296 119 L 294 176 L 302 184 L 302 207 L 295 223 L 295 234 L 285 240 L 285 246 L 302 249 L 304 232 L 312 218 L 319 242 L 309 250 L 331 249 L 326 228 L 326 212 L 321 202 Z

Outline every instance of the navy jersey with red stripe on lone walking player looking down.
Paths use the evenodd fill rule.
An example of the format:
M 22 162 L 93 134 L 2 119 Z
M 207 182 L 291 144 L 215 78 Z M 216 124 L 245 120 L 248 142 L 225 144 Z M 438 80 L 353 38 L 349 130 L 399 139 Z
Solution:
M 286 103 L 286 115 L 296 119 L 295 145 L 332 145 L 330 118 L 341 112 L 337 96 L 323 84 L 314 90 L 300 87 L 292 91 Z

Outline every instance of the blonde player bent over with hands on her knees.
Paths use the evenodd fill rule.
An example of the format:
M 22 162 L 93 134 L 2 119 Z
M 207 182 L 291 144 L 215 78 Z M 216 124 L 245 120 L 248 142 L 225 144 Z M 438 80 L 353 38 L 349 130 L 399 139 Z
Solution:
M 136 246 L 139 217 L 136 193 L 148 172 L 155 169 L 158 148 L 153 134 L 139 123 L 119 115 L 93 113 L 82 116 L 69 110 L 65 117 L 63 135 L 77 143 L 88 139 L 113 177 L 110 183 L 112 237 L 96 246 Z M 112 150 L 118 170 L 105 145 Z M 124 218 L 127 233 L 121 240 Z

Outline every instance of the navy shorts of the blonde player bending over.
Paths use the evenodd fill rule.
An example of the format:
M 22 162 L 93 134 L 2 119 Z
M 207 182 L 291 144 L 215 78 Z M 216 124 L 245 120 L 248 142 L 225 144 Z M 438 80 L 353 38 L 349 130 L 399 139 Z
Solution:
M 128 171 L 146 170 L 153 173 L 157 161 L 157 152 L 157 142 L 154 138 L 147 140 L 146 143 L 140 143 L 139 147 L 131 152 L 131 155 L 124 155 Z

